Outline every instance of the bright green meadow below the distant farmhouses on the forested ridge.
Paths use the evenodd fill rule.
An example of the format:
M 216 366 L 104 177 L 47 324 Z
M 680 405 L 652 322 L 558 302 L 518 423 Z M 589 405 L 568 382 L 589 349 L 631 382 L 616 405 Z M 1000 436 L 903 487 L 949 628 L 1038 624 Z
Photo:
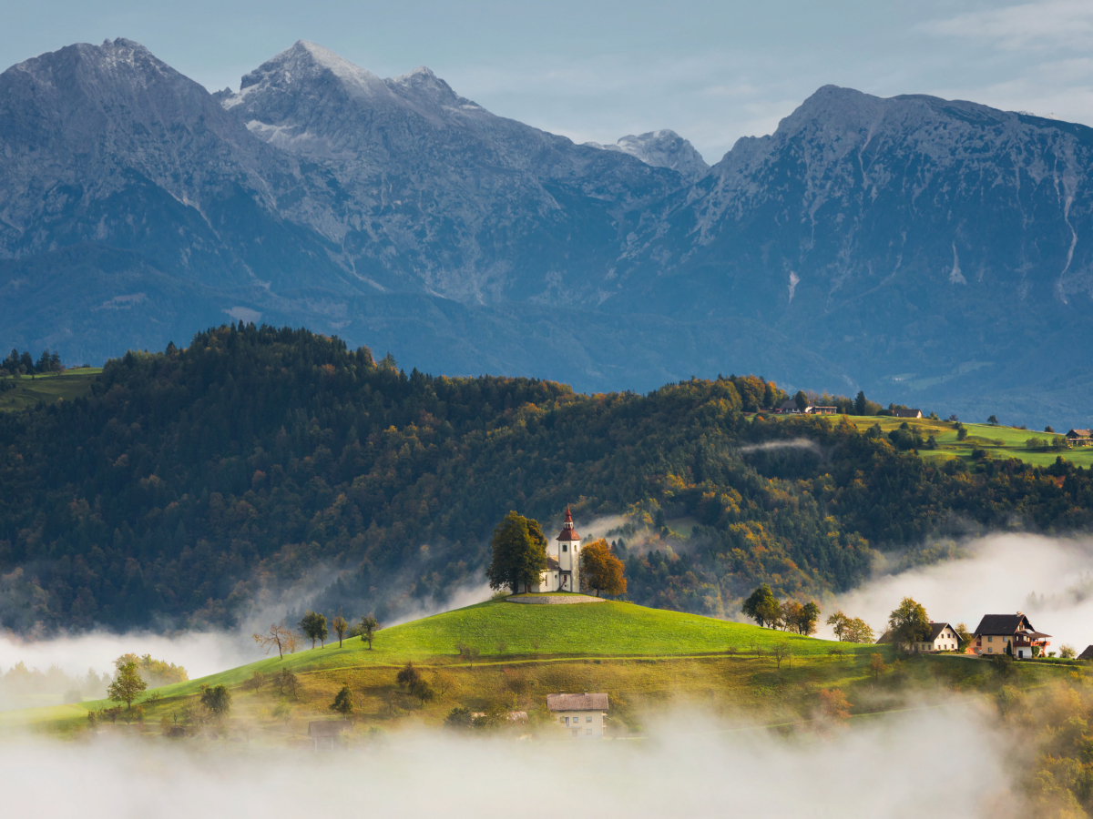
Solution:
M 771 418 L 800 417 L 769 415 Z M 821 417 L 830 424 L 838 424 L 842 415 L 813 416 Z M 1048 466 L 1055 463 L 1055 459 L 1061 455 L 1066 461 L 1076 466 L 1093 466 L 1093 447 L 1076 447 L 1073 449 L 1045 449 L 1031 450 L 1025 446 L 1030 438 L 1037 438 L 1050 446 L 1053 439 L 1061 438 L 1061 435 L 1050 432 L 1037 432 L 1033 429 L 1014 429 L 1013 427 L 994 426 L 990 424 L 965 424 L 967 438 L 963 441 L 956 440 L 956 425 L 947 420 L 931 420 L 929 418 L 890 418 L 883 415 L 848 415 L 846 419 L 865 432 L 877 424 L 886 436 L 893 429 L 897 429 L 901 424 L 908 424 L 917 429 L 924 440 L 931 435 L 938 443 L 938 449 L 920 449 L 918 454 L 938 461 L 947 461 L 960 458 L 965 461 L 972 460 L 972 450 L 982 449 L 988 456 L 995 459 L 1015 458 L 1033 466 Z M 1063 430 L 1065 431 L 1065 430 Z

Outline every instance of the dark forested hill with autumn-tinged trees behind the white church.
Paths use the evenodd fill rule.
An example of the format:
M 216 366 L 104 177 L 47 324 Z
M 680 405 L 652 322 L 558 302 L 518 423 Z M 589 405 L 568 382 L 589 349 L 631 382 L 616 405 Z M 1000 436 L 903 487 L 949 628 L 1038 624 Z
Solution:
M 744 414 L 777 395 L 752 377 L 580 395 L 407 375 L 242 323 L 129 353 L 87 397 L 0 416 L 0 625 L 227 625 L 320 568 L 339 573 L 315 605 L 389 617 L 482 582 L 506 511 L 551 520 L 566 499 L 666 541 L 693 519 L 682 547 L 624 554 L 630 597 L 712 614 L 761 580 L 847 589 L 873 549 L 957 526 L 1091 522 L 1088 472 L 937 468 L 846 423 Z M 816 446 L 752 448 L 798 438 Z

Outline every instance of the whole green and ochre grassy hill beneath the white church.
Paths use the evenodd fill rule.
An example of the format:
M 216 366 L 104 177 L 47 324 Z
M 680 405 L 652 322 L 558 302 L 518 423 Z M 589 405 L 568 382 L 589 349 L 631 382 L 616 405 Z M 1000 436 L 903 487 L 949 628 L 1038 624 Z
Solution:
M 769 650 L 780 642 L 791 646 L 792 657 L 779 666 Z M 458 643 L 481 651 L 473 666 L 459 660 Z M 877 652 L 886 668 L 874 679 L 869 664 Z M 541 711 L 548 693 L 563 691 L 607 691 L 618 735 L 640 731 L 643 720 L 675 705 L 779 723 L 811 719 L 821 688 L 844 690 L 854 713 L 868 714 L 901 708 L 900 691 L 914 686 L 978 691 L 999 684 L 990 664 L 963 655 L 918 657 L 900 666 L 892 660 L 888 646 L 832 643 L 626 603 L 521 606 L 491 601 L 384 629 L 373 651 L 353 639 L 340 649 L 334 642 L 166 686 L 155 692 L 157 702 L 145 699 L 142 704 L 143 725 L 119 722 L 108 729 L 154 734 L 166 717 L 196 731 L 201 685 L 220 684 L 233 692 L 227 729 L 269 744 L 306 741 L 308 721 L 333 716 L 329 705 L 342 685 L 353 693 L 354 732 L 361 736 L 411 724 L 438 725 L 455 707 Z M 437 696 L 432 702 L 423 704 L 396 685 L 398 669 L 409 661 L 433 685 Z M 295 695 L 275 681 L 283 668 L 296 675 Z M 1069 666 L 1026 664 L 1009 681 L 1035 687 L 1067 672 Z M 248 681 L 256 673 L 261 684 L 252 687 Z M 79 731 L 89 710 L 110 704 L 0 713 L 0 727 Z

